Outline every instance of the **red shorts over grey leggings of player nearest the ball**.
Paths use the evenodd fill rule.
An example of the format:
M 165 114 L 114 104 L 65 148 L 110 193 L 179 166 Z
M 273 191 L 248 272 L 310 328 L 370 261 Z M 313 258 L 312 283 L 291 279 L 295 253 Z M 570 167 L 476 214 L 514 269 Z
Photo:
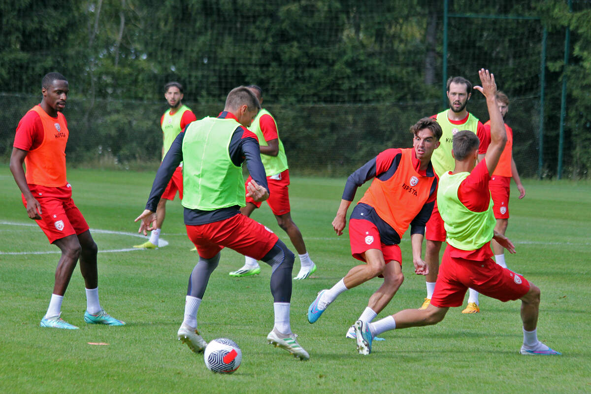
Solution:
M 223 248 L 230 248 L 260 260 L 279 239 L 267 227 L 240 213 L 219 222 L 187 225 L 187 235 L 204 259 L 212 258 Z

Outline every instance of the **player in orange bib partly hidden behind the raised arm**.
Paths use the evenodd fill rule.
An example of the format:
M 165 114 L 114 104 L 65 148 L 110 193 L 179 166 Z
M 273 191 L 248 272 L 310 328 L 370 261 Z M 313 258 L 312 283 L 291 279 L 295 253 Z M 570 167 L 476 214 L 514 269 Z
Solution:
M 505 93 L 499 91 L 496 93 L 496 103 L 499 106 L 504 121 L 507 112 L 509 112 L 509 97 L 507 97 Z M 487 135 L 490 134 L 491 121 L 486 122 L 484 128 Z M 492 173 L 491 180 L 489 181 L 492 202 L 494 204 L 492 211 L 495 214 L 496 219 L 495 231 L 502 235 L 505 235 L 509 220 L 509 191 L 511 190 L 511 178 L 513 178 L 515 184 L 517 184 L 519 200 L 525 197 L 525 188 L 521 184 L 521 178 L 519 178 L 519 173 L 517 172 L 517 165 L 515 165 L 515 161 L 513 160 L 513 129 L 511 129 L 507 123 L 505 123 L 505 132 L 507 134 L 507 143 L 505 149 L 503 149 L 501 158 L 499 159 L 499 164 L 496 165 L 495 171 Z M 491 246 L 492 251 L 495 253 L 495 262 L 503 268 L 507 268 L 504 248 L 494 239 L 491 241 Z M 470 297 L 475 299 L 476 304 L 478 304 L 478 292 L 471 291 Z

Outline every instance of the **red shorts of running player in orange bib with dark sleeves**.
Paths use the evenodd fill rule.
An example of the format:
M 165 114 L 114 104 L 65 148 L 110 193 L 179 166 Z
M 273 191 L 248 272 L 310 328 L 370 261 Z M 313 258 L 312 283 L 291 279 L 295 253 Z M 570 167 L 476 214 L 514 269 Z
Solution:
M 351 255 L 366 262 L 362 253 L 369 249 L 379 249 L 384 255 L 384 261 L 397 261 L 402 265 L 402 253 L 398 245 L 384 245 L 379 236 L 378 227 L 369 220 L 349 220 L 349 240 L 351 243 Z

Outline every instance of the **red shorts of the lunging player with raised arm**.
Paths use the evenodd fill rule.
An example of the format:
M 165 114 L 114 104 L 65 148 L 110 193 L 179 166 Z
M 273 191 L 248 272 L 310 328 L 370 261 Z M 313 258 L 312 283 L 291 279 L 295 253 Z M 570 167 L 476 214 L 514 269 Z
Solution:
M 453 258 L 446 248 L 431 304 L 438 308 L 459 307 L 468 288 L 506 302 L 523 297 L 530 291 L 530 282 L 490 258 L 484 261 Z

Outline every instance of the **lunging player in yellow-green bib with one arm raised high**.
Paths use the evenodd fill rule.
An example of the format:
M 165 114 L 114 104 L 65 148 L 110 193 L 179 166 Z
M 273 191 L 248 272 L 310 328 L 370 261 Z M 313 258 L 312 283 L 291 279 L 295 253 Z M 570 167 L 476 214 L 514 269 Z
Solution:
M 484 69 L 479 71 L 479 76 L 482 87 L 476 86 L 476 90 L 486 97 L 491 117 L 491 144 L 485 158 L 475 165 L 478 137 L 466 130 L 453 136 L 454 169 L 441 175 L 437 191 L 437 204 L 447 230 L 447 248 L 433 298 L 424 310 L 407 309 L 369 324 L 363 320 L 356 321 L 355 334 L 360 354 L 371 353 L 372 339 L 385 331 L 439 323 L 450 307 L 462 305 L 469 287 L 504 302 L 521 299 L 521 354 L 560 354 L 537 337 L 540 289 L 491 259 L 491 239 L 494 238 L 511 253 L 515 253 L 515 247 L 494 230 L 489 178 L 505 147 L 506 134 L 495 98 L 495 77 Z

